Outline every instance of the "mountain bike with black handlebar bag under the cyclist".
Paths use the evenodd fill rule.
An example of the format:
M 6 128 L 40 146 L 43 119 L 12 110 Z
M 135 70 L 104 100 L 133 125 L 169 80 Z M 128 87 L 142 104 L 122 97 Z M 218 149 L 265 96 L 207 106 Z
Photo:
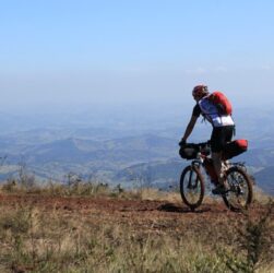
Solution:
M 226 152 L 223 153 L 222 173 L 226 191 L 221 195 L 229 210 L 242 211 L 251 204 L 253 190 L 252 180 L 247 173 L 245 163 L 230 163 L 228 161 L 245 152 L 239 149 L 233 151 L 236 144 L 236 141 L 229 143 Z M 213 161 L 210 157 L 210 142 L 186 144 L 184 147 L 181 147 L 180 155 L 186 159 L 192 159 L 191 164 L 181 173 L 180 193 L 183 203 L 194 211 L 202 204 L 205 194 L 205 178 L 207 177 L 206 180 L 210 180 L 214 186 L 217 185 Z

